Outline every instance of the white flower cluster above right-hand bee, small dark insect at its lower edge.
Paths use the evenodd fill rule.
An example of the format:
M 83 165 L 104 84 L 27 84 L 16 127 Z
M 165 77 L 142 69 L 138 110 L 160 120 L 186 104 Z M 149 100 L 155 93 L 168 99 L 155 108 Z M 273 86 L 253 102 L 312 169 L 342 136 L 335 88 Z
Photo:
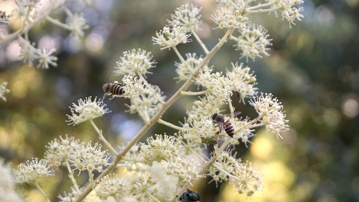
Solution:
M 229 79 L 229 85 L 232 86 L 232 90 L 236 91 L 242 101 L 246 97 L 253 97 L 257 94 L 257 87 L 254 87 L 257 83 L 253 72 L 249 72 L 248 66 L 243 68 L 243 63 L 238 65 L 238 62 L 232 63 L 232 71 L 227 72 L 227 78 Z

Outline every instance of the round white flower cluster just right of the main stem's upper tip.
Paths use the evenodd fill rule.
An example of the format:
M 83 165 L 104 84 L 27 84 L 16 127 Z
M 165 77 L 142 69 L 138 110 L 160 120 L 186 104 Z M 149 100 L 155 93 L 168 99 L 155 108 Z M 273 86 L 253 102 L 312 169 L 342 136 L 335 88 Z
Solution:
M 266 47 L 272 45 L 272 39 L 269 38 L 267 30 L 262 26 L 250 24 L 240 30 L 238 37 L 232 37 L 232 39 L 237 42 L 235 45 L 237 47 L 236 50 L 242 50 L 242 57 L 246 57 L 247 60 L 248 58 L 254 60 L 255 57 L 262 58 L 260 54 L 269 56 L 267 53 L 269 48 Z

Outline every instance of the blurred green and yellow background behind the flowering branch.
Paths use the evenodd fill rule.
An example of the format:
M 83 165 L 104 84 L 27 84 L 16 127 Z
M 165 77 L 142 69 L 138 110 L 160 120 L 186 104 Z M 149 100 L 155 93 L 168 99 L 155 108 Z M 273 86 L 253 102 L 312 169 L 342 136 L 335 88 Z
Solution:
M 74 10 L 83 10 L 78 1 L 70 3 Z M 8 81 L 11 89 L 7 102 L 0 101 L 0 156 L 13 165 L 31 157 L 42 158 L 45 145 L 65 134 L 97 142 L 89 123 L 67 125 L 68 107 L 86 96 L 102 97 L 102 85 L 108 82 L 124 51 L 141 48 L 152 52 L 158 64 L 152 70 L 154 74 L 148 75 L 149 83 L 171 96 L 181 85 L 173 79 L 178 58 L 172 51 L 153 45 L 151 36 L 184 3 L 203 7 L 198 34 L 207 47 L 213 47 L 224 33 L 212 30 L 215 26 L 209 17 L 214 13 L 214 0 L 94 0 L 84 8 L 90 28 L 82 41 L 50 24 L 36 26 L 30 32 L 30 39 L 40 47 L 57 48 L 58 67 L 49 70 L 17 62 L 16 41 L 0 47 L 0 83 Z M 0 7 L 5 5 L 8 1 L 0 1 Z M 290 121 L 291 129 L 283 134 L 283 140 L 257 130 L 249 148 L 237 146 L 242 159 L 252 161 L 265 174 L 263 194 L 247 201 L 359 201 L 359 0 L 304 0 L 303 6 L 304 19 L 292 28 L 280 14 L 249 17 L 268 29 L 273 38 L 270 57 L 246 62 L 239 59 L 240 52 L 230 42 L 211 61 L 222 71 L 231 67 L 230 62 L 248 64 L 257 75 L 259 91 L 276 95 Z M 204 55 L 195 41 L 180 45 L 179 51 Z M 120 79 L 112 74 L 110 81 Z M 192 98 L 179 99 L 164 119 L 183 121 Z M 125 112 L 127 102 L 124 98 L 107 100 L 112 112 L 95 120 L 115 145 L 126 144 L 143 125 L 137 115 Z M 255 116 L 249 104 L 239 104 L 236 98 L 234 102 L 242 115 Z M 175 131 L 156 124 L 141 141 L 164 132 Z M 51 180 L 42 181 L 47 184 L 45 191 L 55 197 L 69 191 L 66 188 L 70 186 L 65 172 L 64 176 L 61 171 L 57 173 Z M 78 178 L 83 183 L 86 180 L 85 175 Z M 200 194 L 201 201 L 245 201 L 227 183 L 216 188 L 215 183 L 208 183 L 210 180 L 207 177 L 194 183 L 192 190 Z M 41 198 L 31 185 L 19 189 L 28 201 Z

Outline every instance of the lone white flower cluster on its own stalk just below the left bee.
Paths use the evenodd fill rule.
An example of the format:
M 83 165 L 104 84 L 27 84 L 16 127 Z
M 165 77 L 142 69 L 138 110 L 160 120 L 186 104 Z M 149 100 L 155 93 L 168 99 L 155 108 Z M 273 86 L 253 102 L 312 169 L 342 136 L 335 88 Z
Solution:
M 105 108 L 106 104 L 104 104 L 101 99 L 98 101 L 97 97 L 92 101 L 91 96 L 87 97 L 85 100 L 80 99 L 78 100 L 79 104 L 76 105 L 75 103 L 72 103 L 71 114 L 67 115 L 70 124 L 79 124 L 86 120 L 92 120 L 94 118 L 103 116 L 105 113 L 108 113 L 110 110 Z

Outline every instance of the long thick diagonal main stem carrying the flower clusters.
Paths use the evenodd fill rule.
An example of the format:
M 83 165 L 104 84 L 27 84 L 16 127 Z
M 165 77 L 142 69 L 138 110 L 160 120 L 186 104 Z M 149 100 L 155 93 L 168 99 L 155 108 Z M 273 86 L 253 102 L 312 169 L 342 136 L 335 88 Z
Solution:
M 214 54 L 221 48 L 221 46 L 227 41 L 228 37 L 232 34 L 234 29 L 228 29 L 227 32 L 224 34 L 224 36 L 221 38 L 221 40 L 216 44 L 215 47 L 207 54 L 205 58 L 203 58 L 203 61 L 198 65 L 196 68 L 194 75 L 192 78 L 189 78 L 183 85 L 180 87 L 173 95 L 170 97 L 166 103 L 162 106 L 162 108 L 157 112 L 156 115 L 154 115 L 149 123 L 146 123 L 140 131 L 138 131 L 137 135 L 123 148 L 123 150 L 116 155 L 116 158 L 112 161 L 111 165 L 103 172 L 101 173 L 94 182 L 96 183 L 98 180 L 100 180 L 102 177 L 106 176 L 108 173 L 110 173 L 113 169 L 116 168 L 117 163 L 121 160 L 122 156 L 124 156 L 133 145 L 135 145 L 138 140 L 150 129 L 159 118 L 166 112 L 166 110 L 181 96 L 181 91 L 186 90 L 192 83 L 193 79 L 200 73 L 201 69 L 203 69 L 204 65 L 214 56 Z M 86 185 L 86 187 L 83 190 L 83 193 L 79 195 L 79 197 L 76 199 L 75 202 L 81 202 L 90 192 L 92 191 L 91 185 Z

